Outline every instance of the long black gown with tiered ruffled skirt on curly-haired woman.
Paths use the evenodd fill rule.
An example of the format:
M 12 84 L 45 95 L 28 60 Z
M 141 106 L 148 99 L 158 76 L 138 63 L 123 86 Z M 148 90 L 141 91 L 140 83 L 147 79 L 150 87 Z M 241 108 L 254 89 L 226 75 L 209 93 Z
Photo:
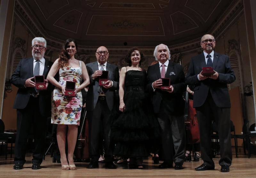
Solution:
M 125 75 L 125 110 L 113 118 L 112 139 L 116 143 L 114 154 L 122 158 L 147 157 L 159 136 L 151 102 L 145 93 L 146 71 L 128 70 Z

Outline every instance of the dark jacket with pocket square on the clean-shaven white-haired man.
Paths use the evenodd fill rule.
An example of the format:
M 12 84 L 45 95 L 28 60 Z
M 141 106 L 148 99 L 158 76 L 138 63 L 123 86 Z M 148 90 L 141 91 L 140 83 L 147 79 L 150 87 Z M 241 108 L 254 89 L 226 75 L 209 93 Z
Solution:
M 175 75 L 171 75 L 171 72 L 174 72 Z M 169 61 L 167 71 L 165 73 L 165 78 L 170 78 L 171 85 L 173 86 L 173 93 L 168 93 L 158 88 L 156 88 L 154 92 L 152 83 L 159 78 L 161 78 L 159 63 L 149 66 L 147 91 L 152 95 L 154 112 L 160 112 L 161 102 L 164 99 L 164 105 L 168 106 L 170 112 L 173 115 L 184 114 L 185 104 L 182 93 L 186 91 L 186 84 L 182 66 L 180 64 Z

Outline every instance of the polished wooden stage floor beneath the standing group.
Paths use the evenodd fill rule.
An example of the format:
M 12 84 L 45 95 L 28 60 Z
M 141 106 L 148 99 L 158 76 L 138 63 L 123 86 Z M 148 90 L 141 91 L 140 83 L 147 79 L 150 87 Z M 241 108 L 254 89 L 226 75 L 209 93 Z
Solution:
M 69 178 L 69 177 L 129 177 L 129 178 L 142 178 L 142 177 L 242 177 L 242 178 L 256 178 L 256 156 L 252 155 L 250 159 L 242 153 L 239 154 L 239 158 L 235 157 L 233 153 L 233 162 L 230 167 L 230 172 L 221 173 L 220 165 L 218 164 L 219 156 L 214 158 L 215 170 L 209 171 L 195 171 L 195 167 L 200 166 L 203 161 L 200 159 L 199 162 L 184 162 L 182 170 L 174 170 L 174 168 L 169 169 L 158 169 L 158 165 L 152 164 L 152 159 L 148 158 L 144 160 L 143 164 L 145 168 L 140 169 L 128 169 L 121 166 L 117 166 L 117 169 L 105 169 L 104 164 L 100 164 L 100 168 L 97 169 L 87 169 L 86 166 L 89 163 L 76 163 L 76 170 L 61 170 L 60 163 L 52 163 L 52 158 L 49 155 L 46 156 L 45 160 L 41 164 L 42 169 L 32 170 L 31 169 L 31 159 L 32 156 L 28 154 L 26 156 L 26 164 L 21 170 L 13 170 L 13 158 L 10 158 L 8 154 L 8 159 L 5 160 L 5 156 L 0 156 L 0 177 L 28 177 L 28 178 Z

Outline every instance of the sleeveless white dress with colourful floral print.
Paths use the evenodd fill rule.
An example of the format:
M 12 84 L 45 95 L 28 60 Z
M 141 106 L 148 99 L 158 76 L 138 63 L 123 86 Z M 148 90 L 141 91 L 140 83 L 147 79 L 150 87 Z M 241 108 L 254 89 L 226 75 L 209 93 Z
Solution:
M 66 81 L 76 82 L 76 88 L 80 85 L 82 76 L 81 61 L 80 67 L 65 67 L 59 70 L 60 85 L 66 85 Z M 82 110 L 82 93 L 77 92 L 75 97 L 65 96 L 62 90 L 55 87 L 52 95 L 52 123 L 53 124 L 76 124 L 80 123 Z

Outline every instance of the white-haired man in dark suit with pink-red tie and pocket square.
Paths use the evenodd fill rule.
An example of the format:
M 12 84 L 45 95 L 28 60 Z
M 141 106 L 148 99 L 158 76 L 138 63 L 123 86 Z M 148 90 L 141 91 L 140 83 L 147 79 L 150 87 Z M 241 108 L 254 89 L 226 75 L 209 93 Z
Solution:
M 164 162 L 159 165 L 159 168 L 172 167 L 174 160 L 174 168 L 183 169 L 182 164 L 185 159 L 185 103 L 182 93 L 186 91 L 183 68 L 180 64 L 170 61 L 170 50 L 164 44 L 156 46 L 154 56 L 159 62 L 148 67 L 147 90 L 152 95 L 154 112 L 161 130 Z M 170 78 L 170 90 L 160 89 L 162 86 L 161 78 Z

